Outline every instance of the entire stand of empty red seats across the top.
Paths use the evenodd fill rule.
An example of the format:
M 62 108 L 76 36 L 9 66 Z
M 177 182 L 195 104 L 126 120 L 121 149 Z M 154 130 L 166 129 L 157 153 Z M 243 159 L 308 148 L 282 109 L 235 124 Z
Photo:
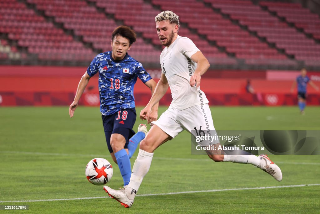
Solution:
M 138 35 L 129 54 L 158 67 L 155 16 L 180 16 L 212 68 L 320 68 L 320 18 L 301 4 L 251 0 L 0 0 L 1 64 L 89 64 L 116 26 Z

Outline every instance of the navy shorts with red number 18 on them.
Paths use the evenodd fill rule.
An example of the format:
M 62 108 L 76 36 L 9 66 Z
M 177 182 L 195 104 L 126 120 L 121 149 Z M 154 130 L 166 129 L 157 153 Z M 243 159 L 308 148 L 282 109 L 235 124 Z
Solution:
M 135 108 L 122 109 L 113 115 L 102 115 L 102 124 L 109 152 L 113 152 L 110 145 L 111 134 L 121 134 L 126 142 L 124 149 L 128 148 L 129 139 L 135 134 L 132 130 L 136 122 L 137 114 Z

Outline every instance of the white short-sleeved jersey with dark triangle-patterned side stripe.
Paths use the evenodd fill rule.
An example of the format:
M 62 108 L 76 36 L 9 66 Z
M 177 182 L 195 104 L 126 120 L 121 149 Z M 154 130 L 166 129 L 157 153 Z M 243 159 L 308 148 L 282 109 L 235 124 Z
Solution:
M 196 63 L 191 60 L 199 49 L 187 37 L 178 36 L 160 55 L 162 73 L 165 74 L 172 95 L 170 107 L 180 111 L 192 106 L 208 103 L 200 87 L 190 86 L 190 76 L 196 70 Z

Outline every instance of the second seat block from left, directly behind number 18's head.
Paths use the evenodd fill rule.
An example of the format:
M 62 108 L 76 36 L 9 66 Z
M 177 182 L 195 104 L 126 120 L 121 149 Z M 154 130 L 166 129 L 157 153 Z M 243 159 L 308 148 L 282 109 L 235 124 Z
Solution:
M 75 0 L 28 0 L 28 2 L 35 3 L 37 9 L 44 10 L 48 16 L 53 16 L 55 21 L 63 23 L 66 29 L 74 30 L 75 34 L 82 36 L 85 42 L 92 43 L 95 49 L 101 49 L 100 52 L 110 50 L 111 33 L 118 25 L 104 13 L 97 11 L 94 6 L 88 5 L 85 1 Z M 142 39 L 137 40 L 129 53 L 137 60 L 143 59 L 146 63 L 156 63 L 160 55 L 159 50 L 146 44 Z

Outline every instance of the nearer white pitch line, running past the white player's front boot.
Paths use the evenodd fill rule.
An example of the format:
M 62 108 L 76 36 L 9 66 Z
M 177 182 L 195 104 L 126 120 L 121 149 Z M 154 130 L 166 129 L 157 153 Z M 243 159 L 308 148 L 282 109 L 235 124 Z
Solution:
M 264 186 L 264 187 L 250 187 L 250 188 L 233 188 L 233 189 L 216 189 L 216 190 L 199 190 L 199 191 L 186 191 L 186 192 L 173 192 L 173 193 L 155 193 L 155 194 L 141 194 L 136 197 L 143 196 L 158 196 L 158 195 L 176 195 L 188 193 L 212 193 L 224 191 L 238 191 L 238 190 L 263 190 L 263 189 L 276 189 L 288 187 L 304 187 L 304 186 L 319 186 L 320 184 L 299 184 L 299 185 L 285 185 L 285 186 Z M 70 200 L 86 200 L 86 199 L 99 199 L 110 197 L 86 197 L 86 198 L 60 198 L 60 199 L 40 199 L 40 200 L 25 200 L 25 201 L 0 201 L 0 203 L 22 203 L 22 202 L 40 202 L 40 201 L 70 201 Z

